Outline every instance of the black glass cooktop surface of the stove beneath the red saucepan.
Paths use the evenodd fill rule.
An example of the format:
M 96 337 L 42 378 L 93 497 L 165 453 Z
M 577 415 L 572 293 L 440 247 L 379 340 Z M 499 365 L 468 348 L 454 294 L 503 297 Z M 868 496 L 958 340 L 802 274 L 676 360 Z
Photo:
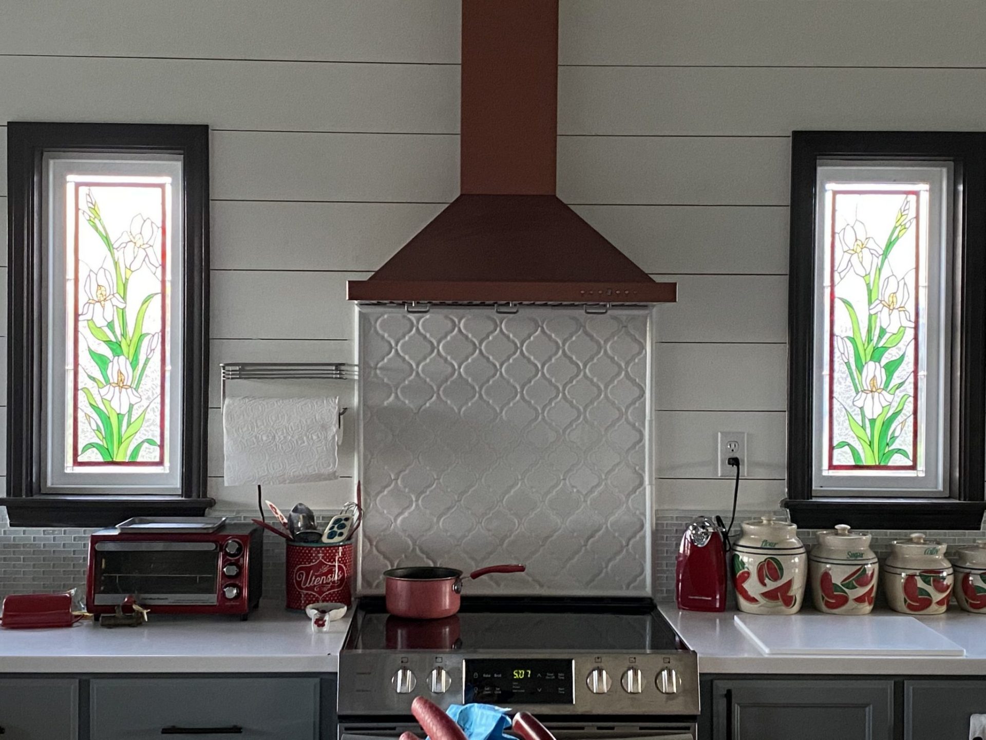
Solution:
M 405 620 L 381 597 L 363 598 L 345 651 L 461 650 L 645 652 L 687 649 L 642 599 L 463 598 L 457 615 Z

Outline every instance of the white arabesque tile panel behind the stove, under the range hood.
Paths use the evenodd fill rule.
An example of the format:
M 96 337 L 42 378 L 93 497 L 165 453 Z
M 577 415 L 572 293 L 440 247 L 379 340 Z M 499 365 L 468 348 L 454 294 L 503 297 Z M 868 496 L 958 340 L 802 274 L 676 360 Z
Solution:
M 362 590 L 523 562 L 468 593 L 649 594 L 650 316 L 361 310 Z

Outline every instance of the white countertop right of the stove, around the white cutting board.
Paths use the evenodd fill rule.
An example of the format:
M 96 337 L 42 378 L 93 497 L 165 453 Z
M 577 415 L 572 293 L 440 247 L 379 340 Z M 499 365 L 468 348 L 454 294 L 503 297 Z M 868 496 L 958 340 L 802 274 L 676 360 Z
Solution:
M 673 604 L 661 604 L 661 613 L 681 638 L 698 653 L 699 673 L 742 674 L 851 674 L 969 676 L 986 674 L 986 615 L 968 614 L 952 605 L 936 617 L 919 617 L 922 623 L 965 648 L 964 657 L 954 656 L 825 656 L 764 655 L 737 627 L 735 610 L 723 613 L 679 612 Z M 867 617 L 806 615 L 832 620 L 833 628 L 844 620 Z M 877 614 L 877 612 L 874 612 Z M 880 611 L 892 615 L 895 612 Z M 797 620 L 796 614 L 789 619 Z M 861 646 L 862 647 L 862 646 Z

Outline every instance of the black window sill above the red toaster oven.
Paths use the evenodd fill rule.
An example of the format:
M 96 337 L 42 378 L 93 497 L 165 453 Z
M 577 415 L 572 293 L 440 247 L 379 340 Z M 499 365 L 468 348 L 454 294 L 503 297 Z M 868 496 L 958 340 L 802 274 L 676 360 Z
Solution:
M 202 516 L 215 503 L 153 495 L 0 497 L 12 527 L 112 527 L 132 516 Z

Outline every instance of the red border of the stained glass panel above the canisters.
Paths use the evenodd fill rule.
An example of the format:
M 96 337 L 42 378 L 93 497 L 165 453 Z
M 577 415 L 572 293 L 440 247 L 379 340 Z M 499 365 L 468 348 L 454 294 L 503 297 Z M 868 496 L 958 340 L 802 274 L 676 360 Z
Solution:
M 921 190 L 832 190 L 832 209 L 829 218 L 829 275 L 828 275 L 828 470 L 830 471 L 916 471 L 918 454 L 918 327 L 920 326 L 921 284 Z M 836 465 L 834 447 L 835 421 L 835 200 L 839 195 L 903 195 L 914 197 L 914 388 L 911 394 L 911 407 L 914 412 L 911 422 L 911 462 L 908 465 Z M 869 310 L 869 306 L 867 307 Z M 868 314 L 869 316 L 869 314 Z

